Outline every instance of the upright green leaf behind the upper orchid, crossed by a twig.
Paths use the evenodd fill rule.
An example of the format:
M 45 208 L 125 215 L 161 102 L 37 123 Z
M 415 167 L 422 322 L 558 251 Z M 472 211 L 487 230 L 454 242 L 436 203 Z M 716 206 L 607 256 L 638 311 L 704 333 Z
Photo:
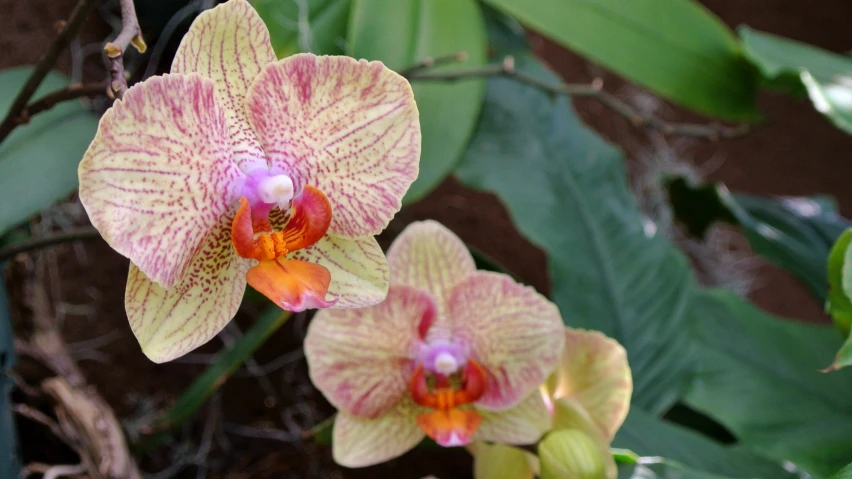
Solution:
M 349 23 L 349 55 L 381 60 L 401 71 L 427 57 L 467 52 L 458 69 L 485 63 L 485 27 L 475 0 L 353 0 Z M 440 69 L 435 69 L 440 71 Z M 458 164 L 470 139 L 485 83 L 415 82 L 423 150 L 420 176 L 405 201 L 423 197 Z

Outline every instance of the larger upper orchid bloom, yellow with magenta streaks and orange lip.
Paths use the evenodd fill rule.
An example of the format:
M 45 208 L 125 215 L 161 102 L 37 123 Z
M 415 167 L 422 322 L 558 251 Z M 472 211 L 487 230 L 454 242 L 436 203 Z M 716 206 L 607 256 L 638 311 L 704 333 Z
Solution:
M 374 236 L 419 155 L 404 78 L 347 57 L 276 60 L 251 5 L 230 0 L 193 22 L 171 73 L 104 114 L 80 199 L 130 259 L 130 326 L 163 362 L 218 333 L 246 282 L 291 311 L 382 301 Z

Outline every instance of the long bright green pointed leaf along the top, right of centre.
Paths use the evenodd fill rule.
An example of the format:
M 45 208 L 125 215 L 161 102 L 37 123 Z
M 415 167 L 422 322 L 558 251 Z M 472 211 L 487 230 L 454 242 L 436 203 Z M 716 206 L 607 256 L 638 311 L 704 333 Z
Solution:
M 486 0 L 604 67 L 698 112 L 753 120 L 756 75 L 692 0 Z

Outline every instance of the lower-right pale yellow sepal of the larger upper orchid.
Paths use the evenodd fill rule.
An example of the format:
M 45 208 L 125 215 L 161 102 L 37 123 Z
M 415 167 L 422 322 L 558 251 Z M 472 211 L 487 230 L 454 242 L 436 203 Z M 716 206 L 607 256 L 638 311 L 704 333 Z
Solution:
M 372 306 L 384 301 L 388 294 L 387 260 L 372 236 L 353 240 L 326 235 L 287 257 L 328 269 L 331 273 L 328 294 L 337 299 L 332 308 Z

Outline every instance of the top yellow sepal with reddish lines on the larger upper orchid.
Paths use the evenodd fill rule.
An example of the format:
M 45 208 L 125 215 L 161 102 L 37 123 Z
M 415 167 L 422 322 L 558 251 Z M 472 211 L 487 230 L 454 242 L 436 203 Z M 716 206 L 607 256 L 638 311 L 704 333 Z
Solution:
M 192 22 L 172 62 L 172 73 L 195 72 L 213 80 L 225 109 L 234 159 L 245 172 L 267 167 L 246 119 L 245 98 L 263 66 L 275 60 L 266 24 L 246 0 L 230 0 Z

